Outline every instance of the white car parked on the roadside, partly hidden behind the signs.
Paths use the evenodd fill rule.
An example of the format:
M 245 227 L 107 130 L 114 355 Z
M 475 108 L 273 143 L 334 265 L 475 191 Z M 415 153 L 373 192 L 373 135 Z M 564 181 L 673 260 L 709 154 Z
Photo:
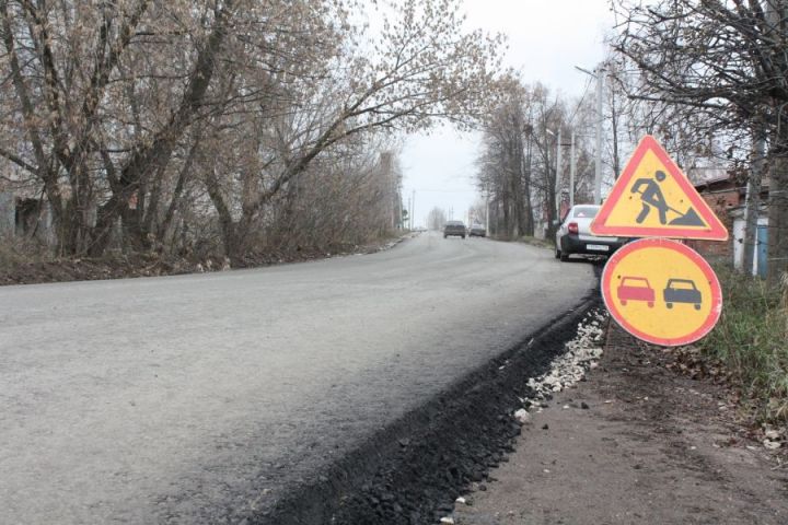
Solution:
M 610 256 L 627 241 L 619 237 L 599 237 L 591 233 L 591 222 L 600 206 L 576 205 L 567 213 L 556 232 L 556 259 L 567 260 L 572 254 Z

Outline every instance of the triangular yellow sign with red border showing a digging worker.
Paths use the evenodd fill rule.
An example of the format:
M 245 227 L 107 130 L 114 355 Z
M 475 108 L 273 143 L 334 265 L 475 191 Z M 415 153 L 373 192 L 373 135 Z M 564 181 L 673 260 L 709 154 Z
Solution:
M 647 135 L 591 223 L 595 235 L 726 241 L 728 230 Z

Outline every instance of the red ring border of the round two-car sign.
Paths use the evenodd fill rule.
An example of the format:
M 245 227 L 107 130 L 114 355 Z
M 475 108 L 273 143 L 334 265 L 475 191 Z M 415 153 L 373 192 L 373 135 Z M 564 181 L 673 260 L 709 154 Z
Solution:
M 638 249 L 652 247 L 674 249 L 685 255 L 693 262 L 695 262 L 698 268 L 700 268 L 700 271 L 703 271 L 704 276 L 706 277 L 711 287 L 711 311 L 709 312 L 708 317 L 698 329 L 684 337 L 663 339 L 640 331 L 633 325 L 627 323 L 626 318 L 624 318 L 624 315 L 618 310 L 615 301 L 607 300 L 606 292 L 607 290 L 610 290 L 611 280 L 613 279 L 613 273 L 615 272 L 615 267 L 618 265 L 621 259 L 631 254 L 633 252 L 637 252 Z M 706 334 L 711 331 L 711 328 L 714 328 L 714 326 L 717 324 L 717 322 L 719 320 L 719 316 L 722 313 L 722 290 L 720 288 L 719 280 L 717 280 L 717 275 L 714 272 L 711 267 L 708 265 L 708 262 L 706 262 L 703 257 L 700 257 L 700 255 L 698 255 L 697 252 L 684 244 L 681 244 L 676 241 L 671 241 L 669 238 L 641 238 L 625 244 L 621 249 L 613 254 L 610 259 L 607 259 L 607 264 L 605 264 L 604 270 L 602 271 L 602 299 L 604 300 L 605 306 L 607 306 L 607 311 L 611 313 L 616 323 L 622 326 L 622 328 L 624 328 L 638 339 L 642 339 L 644 341 L 652 342 L 654 345 L 662 345 L 664 347 L 680 347 L 682 345 L 690 345 L 693 341 L 697 341 Z

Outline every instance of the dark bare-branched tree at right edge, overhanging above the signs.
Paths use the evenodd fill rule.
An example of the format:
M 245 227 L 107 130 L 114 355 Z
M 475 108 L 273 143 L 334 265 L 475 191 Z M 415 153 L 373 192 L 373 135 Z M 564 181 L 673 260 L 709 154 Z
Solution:
M 788 267 L 786 0 L 615 2 L 614 47 L 644 78 L 634 96 L 699 113 L 714 131 L 764 135 L 769 170 L 769 280 Z

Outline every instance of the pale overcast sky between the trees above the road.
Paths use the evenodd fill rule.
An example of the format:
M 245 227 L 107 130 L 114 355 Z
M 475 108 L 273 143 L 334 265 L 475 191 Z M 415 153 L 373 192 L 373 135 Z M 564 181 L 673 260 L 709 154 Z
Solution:
M 603 39 L 613 25 L 609 0 L 465 0 L 468 28 L 500 32 L 509 38 L 503 66 L 566 96 L 581 96 L 588 75 L 604 56 Z M 450 127 L 405 139 L 401 163 L 403 201 L 415 190 L 415 225 L 426 225 L 433 207 L 466 220 L 479 198 L 474 186 L 479 137 Z M 452 219 L 452 217 L 449 217 Z

